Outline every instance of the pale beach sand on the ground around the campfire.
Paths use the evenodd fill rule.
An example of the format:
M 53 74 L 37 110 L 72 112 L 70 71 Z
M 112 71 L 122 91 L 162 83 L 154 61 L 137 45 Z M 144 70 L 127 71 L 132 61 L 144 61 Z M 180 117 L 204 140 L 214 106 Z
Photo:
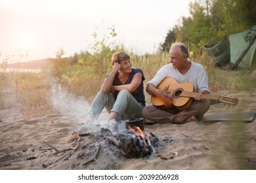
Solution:
M 232 96 L 238 97 L 238 105 L 215 103 L 205 116 L 255 114 L 256 90 Z M 66 112 L 25 118 L 18 110 L 0 110 L 0 169 L 256 169 L 255 118 L 244 116 L 244 122 L 146 124 L 145 133 L 158 137 L 156 152 L 149 157 L 126 158 L 115 138 L 102 135 L 99 124 L 106 121 L 106 111 L 88 135 L 70 141 L 72 131 L 86 117 L 85 112 Z

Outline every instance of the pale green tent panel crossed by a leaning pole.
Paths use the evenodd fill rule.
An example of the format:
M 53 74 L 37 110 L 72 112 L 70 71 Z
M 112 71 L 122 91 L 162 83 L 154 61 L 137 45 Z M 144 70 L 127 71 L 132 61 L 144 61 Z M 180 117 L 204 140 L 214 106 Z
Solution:
M 236 60 L 240 57 L 245 48 L 249 45 L 249 42 L 245 41 L 245 37 L 256 33 L 256 25 L 247 29 L 242 33 L 232 34 L 230 38 L 230 62 L 235 64 Z M 256 41 L 253 42 L 251 48 L 249 48 L 247 54 L 245 54 L 238 67 L 251 67 L 252 64 L 256 64 Z

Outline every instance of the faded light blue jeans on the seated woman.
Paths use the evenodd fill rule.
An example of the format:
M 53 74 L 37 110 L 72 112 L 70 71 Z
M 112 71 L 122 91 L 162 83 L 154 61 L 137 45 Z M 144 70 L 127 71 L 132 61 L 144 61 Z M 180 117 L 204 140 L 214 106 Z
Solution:
M 106 107 L 108 113 L 117 112 L 119 114 L 119 120 L 127 120 L 132 115 L 142 118 L 143 106 L 136 101 L 128 90 L 121 90 L 116 99 L 112 93 L 103 93 L 100 90 L 93 100 L 88 113 L 98 118 L 104 107 Z

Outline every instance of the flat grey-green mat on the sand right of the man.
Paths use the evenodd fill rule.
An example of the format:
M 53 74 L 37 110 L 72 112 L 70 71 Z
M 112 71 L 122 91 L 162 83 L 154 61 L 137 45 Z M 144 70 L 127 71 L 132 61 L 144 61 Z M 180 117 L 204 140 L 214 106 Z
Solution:
M 206 112 L 202 122 L 252 122 L 255 118 L 256 111 L 247 112 Z

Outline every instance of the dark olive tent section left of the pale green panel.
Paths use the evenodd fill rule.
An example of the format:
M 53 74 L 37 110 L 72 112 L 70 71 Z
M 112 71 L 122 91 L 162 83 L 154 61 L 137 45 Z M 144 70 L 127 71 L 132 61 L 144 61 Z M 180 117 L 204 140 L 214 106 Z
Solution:
M 218 67 L 230 63 L 230 44 L 226 36 L 215 46 L 205 46 L 205 50 L 207 55 L 214 56 Z

